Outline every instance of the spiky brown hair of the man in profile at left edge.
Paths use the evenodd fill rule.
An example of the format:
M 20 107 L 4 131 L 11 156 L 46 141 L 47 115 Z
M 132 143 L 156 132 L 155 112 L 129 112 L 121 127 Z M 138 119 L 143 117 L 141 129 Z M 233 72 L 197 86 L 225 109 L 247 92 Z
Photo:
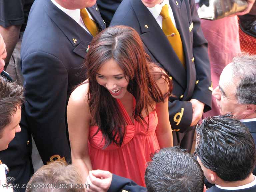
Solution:
M 2 131 L 11 121 L 14 115 L 24 102 L 24 89 L 16 82 L 8 82 L 0 76 L 0 138 Z

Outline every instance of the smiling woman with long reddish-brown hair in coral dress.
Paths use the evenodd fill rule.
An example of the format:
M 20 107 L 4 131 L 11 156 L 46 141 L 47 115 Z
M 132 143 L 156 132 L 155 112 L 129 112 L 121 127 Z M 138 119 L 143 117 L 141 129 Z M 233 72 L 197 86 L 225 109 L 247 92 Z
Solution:
M 150 155 L 173 145 L 169 76 L 150 62 L 138 33 L 125 26 L 97 35 L 85 65 L 88 79 L 67 108 L 72 163 L 83 181 L 89 170 L 102 169 L 145 186 Z

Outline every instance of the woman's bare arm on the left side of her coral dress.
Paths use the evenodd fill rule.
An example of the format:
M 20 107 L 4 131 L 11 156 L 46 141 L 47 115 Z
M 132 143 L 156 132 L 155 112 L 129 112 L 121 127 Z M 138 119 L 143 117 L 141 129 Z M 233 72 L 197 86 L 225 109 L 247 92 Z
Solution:
M 91 115 L 87 92 L 88 83 L 77 87 L 72 92 L 67 107 L 72 164 L 78 167 L 84 183 L 89 171 L 92 170 L 88 148 Z

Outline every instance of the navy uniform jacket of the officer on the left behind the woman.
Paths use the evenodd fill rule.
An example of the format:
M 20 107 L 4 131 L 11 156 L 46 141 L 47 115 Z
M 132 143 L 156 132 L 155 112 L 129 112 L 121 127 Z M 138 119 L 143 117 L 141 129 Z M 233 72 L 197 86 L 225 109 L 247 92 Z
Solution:
M 88 11 L 101 30 L 105 24 L 96 8 Z M 81 68 L 91 40 L 50 0 L 34 2 L 22 40 L 21 68 L 27 121 L 44 164 L 71 160 L 66 107 L 74 86 L 85 79 Z

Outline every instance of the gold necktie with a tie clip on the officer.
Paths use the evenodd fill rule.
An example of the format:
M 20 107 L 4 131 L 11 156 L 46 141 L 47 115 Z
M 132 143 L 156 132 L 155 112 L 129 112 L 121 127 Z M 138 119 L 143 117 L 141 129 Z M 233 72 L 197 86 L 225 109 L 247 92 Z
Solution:
M 168 38 L 173 50 L 176 55 L 179 57 L 182 65 L 186 68 L 185 57 L 183 51 L 183 45 L 180 38 L 180 33 L 177 28 L 174 26 L 172 19 L 169 15 L 168 5 L 164 5 L 160 15 L 163 17 L 162 29 L 166 37 Z

